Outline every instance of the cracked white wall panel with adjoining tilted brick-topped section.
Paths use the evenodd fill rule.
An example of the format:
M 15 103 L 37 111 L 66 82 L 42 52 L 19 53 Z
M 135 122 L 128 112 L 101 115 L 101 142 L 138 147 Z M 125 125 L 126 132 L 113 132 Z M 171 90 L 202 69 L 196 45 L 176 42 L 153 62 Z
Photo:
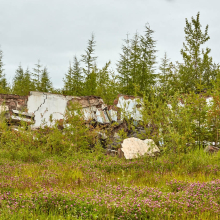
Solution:
M 97 96 L 64 96 L 44 92 L 30 92 L 27 108 L 29 113 L 35 115 L 32 128 L 51 126 L 56 120 L 62 120 L 65 112 L 72 104 L 82 108 L 86 121 L 95 120 L 99 123 L 110 123 L 106 113 L 107 105 Z M 51 120 L 52 119 L 52 120 Z

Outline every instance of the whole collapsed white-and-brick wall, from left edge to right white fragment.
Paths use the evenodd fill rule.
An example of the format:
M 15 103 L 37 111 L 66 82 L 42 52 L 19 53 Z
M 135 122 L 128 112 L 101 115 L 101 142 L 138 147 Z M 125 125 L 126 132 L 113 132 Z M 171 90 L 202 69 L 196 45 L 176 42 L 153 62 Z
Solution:
M 30 92 L 29 96 L 0 94 L 0 112 L 6 112 L 11 120 L 30 122 L 32 128 L 52 126 L 56 120 L 64 119 L 72 104 L 82 108 L 85 121 L 109 124 L 122 121 L 125 116 L 141 120 L 141 99 L 134 96 L 118 95 L 114 105 L 107 106 L 97 96 L 64 96 L 45 92 Z

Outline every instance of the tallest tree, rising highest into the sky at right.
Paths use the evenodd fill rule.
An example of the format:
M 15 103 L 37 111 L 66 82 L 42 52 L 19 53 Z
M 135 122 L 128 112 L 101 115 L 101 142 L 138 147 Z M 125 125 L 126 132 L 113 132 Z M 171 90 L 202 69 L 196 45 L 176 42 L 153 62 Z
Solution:
M 201 30 L 200 13 L 191 22 L 186 19 L 184 28 L 185 40 L 181 55 L 183 64 L 179 65 L 180 82 L 183 92 L 198 91 L 211 87 L 211 80 L 215 79 L 212 58 L 209 56 L 211 49 L 203 49 L 202 45 L 209 39 L 208 25 L 205 31 Z

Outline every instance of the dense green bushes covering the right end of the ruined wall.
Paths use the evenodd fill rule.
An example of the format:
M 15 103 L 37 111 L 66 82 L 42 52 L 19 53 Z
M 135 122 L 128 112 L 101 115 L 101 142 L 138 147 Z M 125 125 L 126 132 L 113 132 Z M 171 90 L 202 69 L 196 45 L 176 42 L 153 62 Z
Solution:
M 207 98 L 213 97 L 212 101 Z M 219 95 L 175 93 L 144 97 L 143 125 L 148 138 L 164 151 L 187 153 L 207 145 L 219 146 Z

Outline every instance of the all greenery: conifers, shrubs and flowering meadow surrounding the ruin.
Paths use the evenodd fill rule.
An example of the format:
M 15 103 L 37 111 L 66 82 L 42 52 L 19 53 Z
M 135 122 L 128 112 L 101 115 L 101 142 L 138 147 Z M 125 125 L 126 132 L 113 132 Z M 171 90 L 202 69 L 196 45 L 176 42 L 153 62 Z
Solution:
M 19 66 L 10 88 L 0 51 L 0 92 L 99 95 L 107 104 L 118 92 L 141 95 L 139 126 L 161 151 L 133 160 L 105 155 L 101 127 L 86 124 L 77 106 L 62 125 L 51 120 L 50 127 L 42 124 L 38 130 L 25 123 L 13 130 L 2 113 L 0 219 L 219 218 L 220 153 L 207 154 L 204 147 L 219 146 L 220 72 L 210 49 L 201 47 L 209 36 L 208 26 L 202 33 L 199 16 L 186 19 L 184 62 L 173 64 L 165 56 L 160 74 L 149 25 L 144 36 L 125 41 L 118 74 L 109 70 L 110 62 L 97 69 L 92 36 L 82 55 L 84 68 L 74 58 L 62 90 L 52 88 L 39 63 L 33 73 Z M 135 130 L 129 119 L 129 129 Z M 119 135 L 126 137 L 123 130 Z

